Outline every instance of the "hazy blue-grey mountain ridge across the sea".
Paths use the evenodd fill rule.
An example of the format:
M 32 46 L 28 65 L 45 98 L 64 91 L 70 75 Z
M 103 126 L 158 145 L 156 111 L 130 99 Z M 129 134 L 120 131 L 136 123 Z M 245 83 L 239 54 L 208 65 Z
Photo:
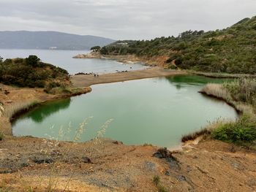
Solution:
M 88 50 L 112 42 L 115 40 L 56 31 L 0 31 L 0 49 Z

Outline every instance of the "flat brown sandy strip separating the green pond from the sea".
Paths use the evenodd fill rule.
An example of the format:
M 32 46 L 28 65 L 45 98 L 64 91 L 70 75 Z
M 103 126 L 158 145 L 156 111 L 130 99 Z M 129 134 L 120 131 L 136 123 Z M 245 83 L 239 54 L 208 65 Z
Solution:
M 94 77 L 94 74 L 73 75 L 71 77 L 72 83 L 75 87 L 87 87 L 90 85 L 108 83 L 108 82 L 122 82 L 127 80 L 139 80 L 151 77 L 167 77 L 170 75 L 187 74 L 183 71 L 175 71 L 162 69 L 160 67 L 153 67 L 131 72 L 118 72 L 111 74 L 101 74 L 99 77 Z

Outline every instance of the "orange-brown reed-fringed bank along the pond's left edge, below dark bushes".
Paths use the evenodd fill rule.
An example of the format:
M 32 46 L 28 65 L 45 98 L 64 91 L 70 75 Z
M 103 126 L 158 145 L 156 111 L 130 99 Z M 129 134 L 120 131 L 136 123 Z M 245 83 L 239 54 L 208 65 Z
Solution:
M 3 104 L 4 112 L 0 118 L 0 131 L 5 135 L 12 135 L 12 121 L 23 113 L 28 112 L 40 104 L 55 99 L 64 99 L 71 96 L 91 92 L 91 88 L 69 88 L 66 93 L 49 94 L 42 88 L 14 88 L 2 85 L 0 101 Z

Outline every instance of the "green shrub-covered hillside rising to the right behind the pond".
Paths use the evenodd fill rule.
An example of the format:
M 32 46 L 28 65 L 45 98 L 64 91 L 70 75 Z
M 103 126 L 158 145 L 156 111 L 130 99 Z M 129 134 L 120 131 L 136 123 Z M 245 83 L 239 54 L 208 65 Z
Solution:
M 185 31 L 178 37 L 118 41 L 102 47 L 103 55 L 165 55 L 165 64 L 205 72 L 256 74 L 256 17 L 216 31 Z

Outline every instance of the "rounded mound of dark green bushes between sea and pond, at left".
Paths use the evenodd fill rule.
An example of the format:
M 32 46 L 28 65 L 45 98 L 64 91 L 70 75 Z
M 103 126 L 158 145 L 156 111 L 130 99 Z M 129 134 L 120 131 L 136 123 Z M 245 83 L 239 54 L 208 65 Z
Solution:
M 7 59 L 0 63 L 0 82 L 6 85 L 45 88 L 49 84 L 68 80 L 66 70 L 42 63 L 36 55 L 25 59 Z

